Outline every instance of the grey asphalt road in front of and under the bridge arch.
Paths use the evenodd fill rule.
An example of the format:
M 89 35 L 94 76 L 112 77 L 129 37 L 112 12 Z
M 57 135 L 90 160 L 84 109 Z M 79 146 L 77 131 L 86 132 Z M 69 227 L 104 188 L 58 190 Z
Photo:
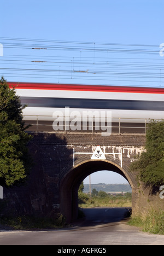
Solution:
M 0 245 L 56 245 L 60 248 L 61 246 L 75 245 L 102 247 L 108 245 L 164 245 L 164 235 L 150 235 L 139 231 L 136 227 L 127 225 L 127 220 L 119 220 L 124 218 L 125 209 L 123 208 L 103 208 L 99 211 L 99 213 L 102 212 L 102 217 L 99 217 L 98 214 L 98 219 L 92 218 L 92 210 L 87 210 L 89 214 L 84 222 L 77 223 L 71 228 L 42 231 L 1 231 Z M 98 209 L 95 212 L 98 213 Z M 109 216 L 109 222 L 107 222 L 107 213 L 115 214 L 114 222 L 110 222 L 114 217 Z

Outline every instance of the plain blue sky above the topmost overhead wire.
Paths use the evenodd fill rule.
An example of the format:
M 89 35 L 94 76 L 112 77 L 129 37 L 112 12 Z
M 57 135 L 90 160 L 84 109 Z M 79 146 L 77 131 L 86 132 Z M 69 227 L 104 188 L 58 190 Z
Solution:
M 1 0 L 1 37 L 157 44 L 163 0 Z

